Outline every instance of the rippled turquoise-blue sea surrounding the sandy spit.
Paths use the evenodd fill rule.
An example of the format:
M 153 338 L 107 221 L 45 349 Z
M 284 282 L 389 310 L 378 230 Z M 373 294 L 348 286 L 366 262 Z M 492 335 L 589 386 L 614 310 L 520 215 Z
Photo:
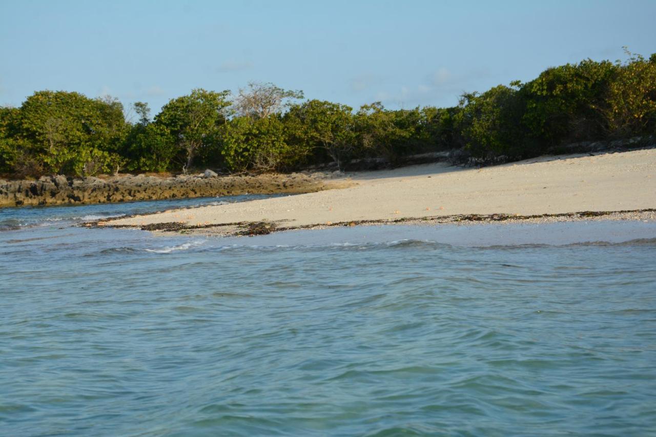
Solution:
M 71 226 L 179 204 L 0 210 L 0 434 L 656 433 L 653 223 Z

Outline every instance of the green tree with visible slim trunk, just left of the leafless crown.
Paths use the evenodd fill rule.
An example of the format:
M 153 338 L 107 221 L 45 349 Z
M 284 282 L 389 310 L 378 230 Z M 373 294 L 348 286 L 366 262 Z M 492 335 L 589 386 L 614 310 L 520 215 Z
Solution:
M 230 91 L 194 89 L 188 96 L 169 100 L 155 116 L 155 124 L 165 127 L 174 144 L 184 151 L 183 171 L 192 167 L 199 150 L 208 146 L 216 129 L 226 123 L 226 110 L 231 104 L 229 95 Z

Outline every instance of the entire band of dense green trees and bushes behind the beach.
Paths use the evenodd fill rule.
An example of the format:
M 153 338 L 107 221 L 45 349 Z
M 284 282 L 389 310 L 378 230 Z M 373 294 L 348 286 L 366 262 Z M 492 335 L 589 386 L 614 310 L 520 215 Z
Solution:
M 230 92 L 194 89 L 154 119 L 134 104 L 125 121 L 112 98 L 38 91 L 20 108 L 0 108 L 0 173 L 288 171 L 352 159 L 462 149 L 483 158 L 536 156 L 570 142 L 656 134 L 656 54 L 628 51 L 625 62 L 584 60 L 544 70 L 527 83 L 464 93 L 454 108 L 388 110 L 375 102 L 354 112 L 300 91 L 249 83 Z

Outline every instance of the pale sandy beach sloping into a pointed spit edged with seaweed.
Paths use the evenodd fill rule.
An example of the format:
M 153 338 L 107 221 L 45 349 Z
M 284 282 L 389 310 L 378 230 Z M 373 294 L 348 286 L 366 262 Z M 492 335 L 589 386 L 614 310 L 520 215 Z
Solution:
M 215 229 L 215 234 L 222 234 L 225 231 L 220 229 L 222 224 L 261 220 L 275 222 L 279 227 L 298 228 L 463 214 L 527 216 L 653 209 L 656 207 L 656 150 L 548 156 L 481 169 L 434 163 L 350 173 L 327 183 L 336 188 L 166 211 L 107 224 L 144 226 L 176 222 L 183 226 L 205 226 L 203 233 Z M 344 186 L 347 188 L 337 188 Z M 653 213 L 646 217 L 653 218 Z

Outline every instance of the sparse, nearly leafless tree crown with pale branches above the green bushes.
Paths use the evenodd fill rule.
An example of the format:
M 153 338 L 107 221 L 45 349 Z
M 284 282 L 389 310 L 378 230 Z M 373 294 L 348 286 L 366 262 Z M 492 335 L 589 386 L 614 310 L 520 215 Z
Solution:
M 273 83 L 249 82 L 248 88 L 239 89 L 234 109 L 237 115 L 251 119 L 279 114 L 289 99 L 303 98 L 302 91 L 285 90 Z

